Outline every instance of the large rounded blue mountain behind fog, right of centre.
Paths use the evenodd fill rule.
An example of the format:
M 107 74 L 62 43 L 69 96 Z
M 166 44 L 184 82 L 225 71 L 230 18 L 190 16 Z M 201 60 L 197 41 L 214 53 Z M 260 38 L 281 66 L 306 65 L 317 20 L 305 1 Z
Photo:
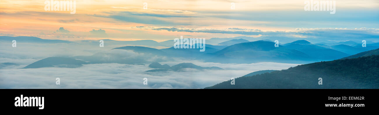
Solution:
M 312 57 L 294 49 L 288 49 L 279 45 L 274 47 L 274 42 L 252 41 L 238 43 L 221 49 L 215 53 L 200 56 L 201 60 L 217 63 L 256 63 L 262 61 L 298 63 L 312 62 Z

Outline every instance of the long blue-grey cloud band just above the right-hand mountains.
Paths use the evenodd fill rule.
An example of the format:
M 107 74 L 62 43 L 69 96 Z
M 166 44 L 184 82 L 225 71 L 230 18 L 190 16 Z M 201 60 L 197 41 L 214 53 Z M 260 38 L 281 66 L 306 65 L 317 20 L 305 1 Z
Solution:
M 284 41 L 293 41 L 299 39 L 307 39 L 315 42 L 324 41 L 378 41 L 379 29 L 376 28 L 296 28 L 287 31 L 277 30 L 260 30 L 245 28 L 176 28 L 164 26 L 135 26 L 131 28 L 166 30 L 173 32 L 199 32 L 199 33 L 219 33 L 219 34 L 241 34 L 241 35 L 262 35 L 260 38 L 273 40 L 275 38 L 285 37 Z M 267 38 L 271 37 L 271 38 Z

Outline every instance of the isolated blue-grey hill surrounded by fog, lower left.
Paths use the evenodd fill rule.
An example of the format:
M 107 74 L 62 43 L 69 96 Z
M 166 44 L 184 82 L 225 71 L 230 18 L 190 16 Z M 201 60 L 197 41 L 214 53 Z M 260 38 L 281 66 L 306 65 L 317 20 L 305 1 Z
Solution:
M 76 68 L 83 66 L 82 64 L 88 64 L 85 61 L 75 60 L 73 58 L 64 58 L 64 57 L 48 57 L 42 60 L 36 61 L 29 64 L 26 68 L 41 68 L 41 67 L 67 67 L 67 68 Z

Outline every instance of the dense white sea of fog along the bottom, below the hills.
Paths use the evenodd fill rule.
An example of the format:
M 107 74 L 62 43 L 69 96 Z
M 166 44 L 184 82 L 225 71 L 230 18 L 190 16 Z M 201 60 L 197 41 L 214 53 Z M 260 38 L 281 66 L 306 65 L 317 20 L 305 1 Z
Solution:
M 193 61 L 189 61 L 193 62 Z M 177 64 L 179 62 L 169 62 Z M 260 69 L 287 69 L 297 64 L 253 63 L 219 64 L 219 71 L 155 72 L 148 65 L 85 64 L 79 68 L 44 67 L 37 69 L 0 69 L 0 88 L 6 89 L 139 89 L 139 88 L 204 88 L 230 78 L 241 77 Z M 208 65 L 208 66 L 210 66 Z M 60 78 L 60 85 L 55 78 Z M 148 84 L 143 84 L 148 78 Z

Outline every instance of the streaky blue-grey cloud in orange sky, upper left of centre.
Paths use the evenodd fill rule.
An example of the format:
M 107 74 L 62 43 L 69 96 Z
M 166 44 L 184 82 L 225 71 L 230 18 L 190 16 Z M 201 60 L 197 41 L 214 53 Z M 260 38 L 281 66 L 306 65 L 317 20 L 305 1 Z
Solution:
M 138 7 L 111 7 L 111 11 L 100 12 L 89 16 L 112 18 L 118 21 L 142 23 L 150 25 L 191 25 L 183 18 L 199 17 L 197 12 L 171 9 L 143 9 Z M 122 11 L 120 11 L 120 9 Z

